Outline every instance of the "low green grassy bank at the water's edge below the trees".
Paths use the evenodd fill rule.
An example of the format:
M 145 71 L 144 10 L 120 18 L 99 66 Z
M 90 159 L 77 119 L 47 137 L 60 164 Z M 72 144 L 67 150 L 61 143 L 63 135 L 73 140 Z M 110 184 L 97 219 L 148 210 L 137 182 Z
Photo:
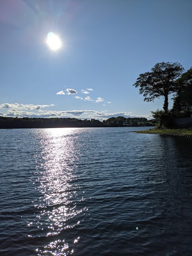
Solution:
M 136 133 L 192 136 L 192 129 L 159 129 L 159 128 L 153 128 L 153 129 L 145 130 L 145 131 L 137 131 Z

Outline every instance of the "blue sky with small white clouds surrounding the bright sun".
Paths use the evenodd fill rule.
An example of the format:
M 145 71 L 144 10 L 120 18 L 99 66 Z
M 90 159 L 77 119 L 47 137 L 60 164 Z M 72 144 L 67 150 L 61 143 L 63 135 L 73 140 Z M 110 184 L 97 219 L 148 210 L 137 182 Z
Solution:
M 192 66 L 191 10 L 191 0 L 0 1 L 0 115 L 150 119 L 163 98 L 144 102 L 132 85 L 158 62 Z

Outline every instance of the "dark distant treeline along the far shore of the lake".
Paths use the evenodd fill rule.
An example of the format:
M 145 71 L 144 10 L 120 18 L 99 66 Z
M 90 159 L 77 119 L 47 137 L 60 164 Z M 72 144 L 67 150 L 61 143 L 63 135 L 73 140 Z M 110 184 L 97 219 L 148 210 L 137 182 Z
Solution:
M 0 129 L 6 128 L 62 128 L 62 127 L 123 127 L 123 126 L 154 126 L 155 120 L 146 118 L 112 117 L 103 122 L 95 119 L 77 118 L 13 118 L 0 116 Z

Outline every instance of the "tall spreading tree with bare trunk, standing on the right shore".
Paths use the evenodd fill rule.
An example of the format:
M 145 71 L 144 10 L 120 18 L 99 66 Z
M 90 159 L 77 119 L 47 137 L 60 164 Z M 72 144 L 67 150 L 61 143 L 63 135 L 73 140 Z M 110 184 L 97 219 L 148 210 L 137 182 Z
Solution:
M 177 91 L 177 79 L 184 72 L 184 68 L 178 62 L 157 63 L 151 72 L 140 74 L 134 86 L 140 87 L 144 101 L 154 101 L 155 98 L 164 97 L 164 111 L 168 112 L 168 95 Z

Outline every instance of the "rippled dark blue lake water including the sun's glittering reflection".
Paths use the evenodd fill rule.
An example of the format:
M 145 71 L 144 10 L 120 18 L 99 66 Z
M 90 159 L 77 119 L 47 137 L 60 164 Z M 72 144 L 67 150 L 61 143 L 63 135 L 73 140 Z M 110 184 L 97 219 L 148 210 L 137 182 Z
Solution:
M 0 130 L 0 255 L 192 255 L 192 138 L 138 129 Z

